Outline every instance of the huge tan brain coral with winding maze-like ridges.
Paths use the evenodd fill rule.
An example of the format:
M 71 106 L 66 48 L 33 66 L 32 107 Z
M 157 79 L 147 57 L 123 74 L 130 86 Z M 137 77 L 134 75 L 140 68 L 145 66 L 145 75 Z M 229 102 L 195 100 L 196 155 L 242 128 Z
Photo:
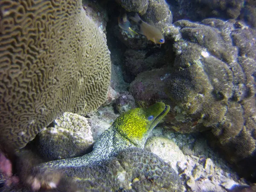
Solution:
M 0 140 L 22 148 L 64 111 L 106 98 L 110 53 L 81 0 L 0 1 Z

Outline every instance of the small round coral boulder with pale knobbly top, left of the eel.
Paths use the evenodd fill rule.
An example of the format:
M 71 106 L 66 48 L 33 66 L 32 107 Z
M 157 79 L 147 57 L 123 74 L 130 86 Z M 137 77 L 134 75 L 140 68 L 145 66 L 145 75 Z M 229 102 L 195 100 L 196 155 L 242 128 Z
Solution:
M 77 157 L 93 144 L 90 125 L 84 116 L 65 112 L 54 127 L 41 131 L 35 138 L 38 154 L 47 160 Z

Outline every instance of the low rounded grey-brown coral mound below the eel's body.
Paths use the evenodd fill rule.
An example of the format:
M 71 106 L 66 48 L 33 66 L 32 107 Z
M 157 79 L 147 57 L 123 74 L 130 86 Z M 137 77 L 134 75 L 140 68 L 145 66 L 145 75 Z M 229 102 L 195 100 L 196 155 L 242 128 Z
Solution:
M 140 148 L 120 151 L 101 165 L 70 167 L 58 183 L 59 192 L 181 192 L 181 189 L 180 178 L 172 167 L 157 155 Z M 29 192 L 31 189 L 13 186 L 2 191 Z

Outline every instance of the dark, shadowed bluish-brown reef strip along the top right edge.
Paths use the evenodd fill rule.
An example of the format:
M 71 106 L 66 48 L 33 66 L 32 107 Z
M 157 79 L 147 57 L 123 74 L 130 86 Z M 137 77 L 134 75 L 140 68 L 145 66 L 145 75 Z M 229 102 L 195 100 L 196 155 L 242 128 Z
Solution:
M 205 18 L 236 19 L 256 27 L 256 2 L 254 0 L 167 0 L 173 20 L 199 21 Z

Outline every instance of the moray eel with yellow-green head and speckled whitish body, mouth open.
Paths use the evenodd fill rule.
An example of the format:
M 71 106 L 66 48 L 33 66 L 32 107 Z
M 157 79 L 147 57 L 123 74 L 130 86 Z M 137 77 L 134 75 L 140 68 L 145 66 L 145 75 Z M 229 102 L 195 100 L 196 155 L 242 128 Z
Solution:
M 134 108 L 122 113 L 102 133 L 93 145 L 93 151 L 81 157 L 54 160 L 39 164 L 38 168 L 81 167 L 101 163 L 126 148 L 144 148 L 152 129 L 169 112 L 170 106 L 157 102 L 148 108 Z

